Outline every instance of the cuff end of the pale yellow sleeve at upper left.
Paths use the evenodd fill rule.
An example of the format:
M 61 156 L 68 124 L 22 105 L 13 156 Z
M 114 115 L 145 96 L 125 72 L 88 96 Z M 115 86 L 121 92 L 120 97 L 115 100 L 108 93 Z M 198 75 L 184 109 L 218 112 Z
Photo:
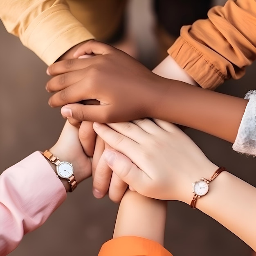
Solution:
M 90 39 L 94 36 L 61 5 L 43 11 L 20 36 L 22 44 L 47 65 L 73 46 Z

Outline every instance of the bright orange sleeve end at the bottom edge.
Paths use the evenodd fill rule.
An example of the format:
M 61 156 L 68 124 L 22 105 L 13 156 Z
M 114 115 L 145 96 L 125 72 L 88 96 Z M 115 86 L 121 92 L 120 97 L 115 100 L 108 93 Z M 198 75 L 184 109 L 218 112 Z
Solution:
M 98 256 L 172 256 L 159 243 L 137 236 L 122 236 L 104 243 Z

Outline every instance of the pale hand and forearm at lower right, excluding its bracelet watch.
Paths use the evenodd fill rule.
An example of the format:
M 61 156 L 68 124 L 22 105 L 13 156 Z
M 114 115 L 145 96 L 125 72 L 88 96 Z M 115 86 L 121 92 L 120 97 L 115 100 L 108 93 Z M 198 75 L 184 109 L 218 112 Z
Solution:
M 175 125 L 154 121 L 94 123 L 97 134 L 113 148 L 102 157 L 138 193 L 190 204 L 191 184 L 201 177 L 209 179 L 218 166 Z M 196 207 L 255 250 L 256 188 L 227 171 L 210 182 L 209 188 Z

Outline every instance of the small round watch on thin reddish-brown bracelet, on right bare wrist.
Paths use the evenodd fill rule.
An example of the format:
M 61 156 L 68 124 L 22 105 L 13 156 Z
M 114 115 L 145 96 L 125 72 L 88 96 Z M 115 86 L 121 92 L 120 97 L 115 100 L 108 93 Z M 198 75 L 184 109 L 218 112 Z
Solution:
M 227 171 L 225 167 L 218 168 L 217 171 L 213 173 L 213 175 L 209 178 L 209 180 L 205 178 L 201 178 L 200 180 L 195 181 L 192 183 L 193 188 L 193 199 L 190 203 L 190 207 L 195 209 L 195 203 L 198 198 L 200 198 L 203 195 L 206 195 L 209 191 L 209 183 L 214 180 L 222 171 Z

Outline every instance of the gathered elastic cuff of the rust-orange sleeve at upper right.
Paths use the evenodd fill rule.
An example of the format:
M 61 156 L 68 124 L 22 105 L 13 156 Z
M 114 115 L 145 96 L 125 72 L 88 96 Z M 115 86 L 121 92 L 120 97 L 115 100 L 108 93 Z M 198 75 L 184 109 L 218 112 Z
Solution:
M 215 90 L 225 80 L 211 60 L 181 36 L 168 49 L 168 54 L 202 88 Z

